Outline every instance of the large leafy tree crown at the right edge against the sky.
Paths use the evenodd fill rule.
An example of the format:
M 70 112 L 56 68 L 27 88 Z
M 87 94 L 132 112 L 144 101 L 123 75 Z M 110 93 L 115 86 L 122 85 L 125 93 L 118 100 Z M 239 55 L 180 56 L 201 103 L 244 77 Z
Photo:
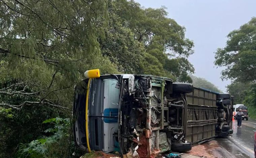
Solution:
M 237 82 L 256 80 L 256 17 L 228 34 L 224 48 L 215 52 L 215 65 L 226 67 L 222 79 Z

